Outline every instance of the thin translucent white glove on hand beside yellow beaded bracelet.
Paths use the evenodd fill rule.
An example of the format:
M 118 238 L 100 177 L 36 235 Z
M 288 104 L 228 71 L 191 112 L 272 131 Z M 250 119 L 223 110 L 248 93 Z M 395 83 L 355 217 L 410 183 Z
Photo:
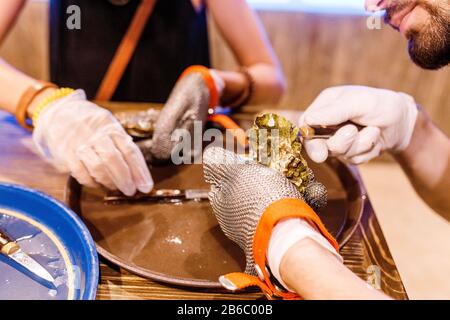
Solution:
M 40 154 L 83 185 L 148 193 L 153 180 L 139 148 L 106 109 L 77 90 L 44 109 L 33 133 Z

